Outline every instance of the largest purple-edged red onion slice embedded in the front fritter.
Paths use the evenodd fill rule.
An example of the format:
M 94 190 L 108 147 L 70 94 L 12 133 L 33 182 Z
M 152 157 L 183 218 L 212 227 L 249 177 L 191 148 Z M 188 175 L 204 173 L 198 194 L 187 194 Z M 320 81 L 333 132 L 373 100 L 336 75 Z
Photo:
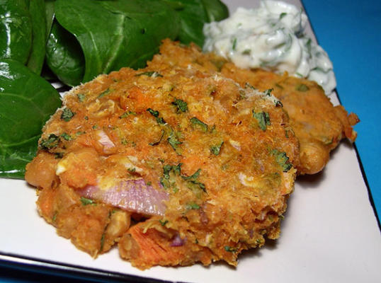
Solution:
M 155 190 L 143 179 L 123 180 L 107 190 L 98 186 L 87 186 L 78 192 L 83 197 L 147 215 L 164 215 L 166 210 L 164 201 L 169 199 L 167 192 Z

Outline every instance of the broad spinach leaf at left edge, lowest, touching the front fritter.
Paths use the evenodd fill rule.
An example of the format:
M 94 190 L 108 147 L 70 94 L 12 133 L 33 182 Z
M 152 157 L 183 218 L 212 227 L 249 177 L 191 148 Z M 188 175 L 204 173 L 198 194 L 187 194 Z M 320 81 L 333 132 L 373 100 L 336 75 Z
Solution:
M 0 61 L 0 86 L 0 177 L 23 178 L 61 100 L 50 83 L 12 59 Z

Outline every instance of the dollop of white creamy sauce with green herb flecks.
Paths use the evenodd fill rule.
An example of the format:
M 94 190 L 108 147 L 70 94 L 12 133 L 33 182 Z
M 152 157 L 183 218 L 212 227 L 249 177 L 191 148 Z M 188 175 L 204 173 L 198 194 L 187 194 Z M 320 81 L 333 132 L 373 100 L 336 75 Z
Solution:
M 237 67 L 299 76 L 319 83 L 326 94 L 336 88 L 326 52 L 305 35 L 307 16 L 283 1 L 261 1 L 237 8 L 229 18 L 204 25 L 204 52 L 215 52 Z

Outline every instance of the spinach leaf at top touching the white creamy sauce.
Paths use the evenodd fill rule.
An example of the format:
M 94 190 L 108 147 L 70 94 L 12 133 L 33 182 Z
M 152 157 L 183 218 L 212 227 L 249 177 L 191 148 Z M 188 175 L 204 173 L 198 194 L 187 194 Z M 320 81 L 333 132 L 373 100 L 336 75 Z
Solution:
M 178 40 L 183 43 L 204 44 L 203 25 L 210 21 L 220 21 L 229 16 L 227 6 L 220 0 L 166 0 L 178 4 L 176 12 L 181 18 Z M 179 5 L 183 4 L 183 6 Z

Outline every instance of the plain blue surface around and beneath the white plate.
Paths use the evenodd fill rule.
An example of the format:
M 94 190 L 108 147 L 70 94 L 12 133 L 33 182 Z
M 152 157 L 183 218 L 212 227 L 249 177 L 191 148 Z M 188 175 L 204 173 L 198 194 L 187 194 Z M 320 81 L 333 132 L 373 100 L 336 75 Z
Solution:
M 319 44 L 334 63 L 341 103 L 360 117 L 355 144 L 370 197 L 381 215 L 381 1 L 304 0 L 303 4 Z M 0 282 L 67 280 L 41 279 L 40 275 L 0 267 Z

